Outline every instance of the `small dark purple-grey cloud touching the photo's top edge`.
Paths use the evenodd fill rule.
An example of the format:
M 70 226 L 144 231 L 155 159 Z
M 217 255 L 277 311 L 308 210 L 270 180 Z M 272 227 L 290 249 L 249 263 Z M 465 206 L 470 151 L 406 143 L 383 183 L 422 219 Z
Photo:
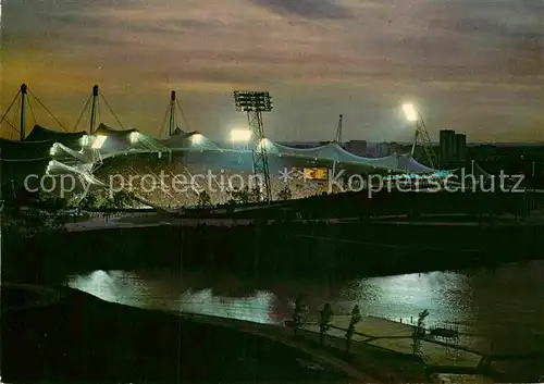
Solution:
M 332 0 L 250 0 L 254 4 L 268 8 L 272 12 L 304 18 L 344 18 L 349 10 Z

